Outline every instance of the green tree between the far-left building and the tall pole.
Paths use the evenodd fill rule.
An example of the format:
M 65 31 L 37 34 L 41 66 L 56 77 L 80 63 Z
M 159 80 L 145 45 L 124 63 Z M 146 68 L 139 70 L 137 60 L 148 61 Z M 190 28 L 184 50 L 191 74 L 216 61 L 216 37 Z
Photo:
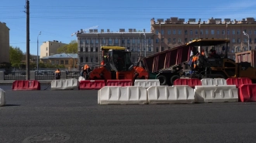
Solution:
M 19 67 L 19 63 L 22 61 L 22 50 L 19 47 L 10 46 L 10 62 L 12 66 Z

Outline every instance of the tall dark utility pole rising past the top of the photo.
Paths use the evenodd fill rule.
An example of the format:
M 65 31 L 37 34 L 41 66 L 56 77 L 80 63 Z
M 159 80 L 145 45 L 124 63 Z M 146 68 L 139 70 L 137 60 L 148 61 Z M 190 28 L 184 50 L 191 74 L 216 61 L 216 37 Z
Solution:
M 26 0 L 26 80 L 29 79 L 29 0 Z

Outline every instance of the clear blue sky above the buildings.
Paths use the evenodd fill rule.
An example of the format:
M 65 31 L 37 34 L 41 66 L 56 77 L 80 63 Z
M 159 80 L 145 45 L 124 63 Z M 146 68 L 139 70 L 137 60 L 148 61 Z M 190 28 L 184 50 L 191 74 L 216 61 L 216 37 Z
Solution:
M 9 27 L 10 46 L 26 53 L 26 0 L 0 0 L 0 22 Z M 100 29 L 146 29 L 150 19 L 256 19 L 256 1 L 251 0 L 29 0 L 30 54 L 43 42 L 76 40 L 72 33 L 99 26 Z M 39 36 L 39 33 L 41 35 Z M 40 49 L 39 49 L 40 51 Z M 39 52 L 40 54 L 40 52 Z

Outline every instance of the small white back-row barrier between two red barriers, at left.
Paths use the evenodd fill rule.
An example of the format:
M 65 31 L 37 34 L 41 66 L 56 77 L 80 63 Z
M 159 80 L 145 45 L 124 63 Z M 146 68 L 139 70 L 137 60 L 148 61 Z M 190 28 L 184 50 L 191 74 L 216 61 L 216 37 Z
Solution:
M 74 90 L 76 88 L 78 88 L 78 80 L 74 78 L 51 81 L 51 90 Z

